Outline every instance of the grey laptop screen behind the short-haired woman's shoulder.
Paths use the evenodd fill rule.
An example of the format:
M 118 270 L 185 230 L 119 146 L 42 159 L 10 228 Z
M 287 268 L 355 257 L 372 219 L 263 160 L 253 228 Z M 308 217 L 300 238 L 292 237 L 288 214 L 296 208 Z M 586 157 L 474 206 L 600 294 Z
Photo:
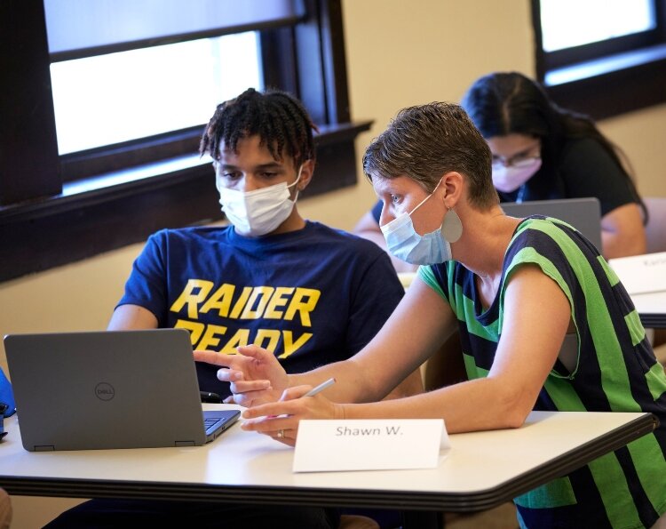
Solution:
M 597 249 L 601 250 L 601 205 L 599 198 L 558 198 L 529 200 L 527 202 L 503 202 L 500 204 L 511 217 L 545 215 L 564 220 L 580 231 Z

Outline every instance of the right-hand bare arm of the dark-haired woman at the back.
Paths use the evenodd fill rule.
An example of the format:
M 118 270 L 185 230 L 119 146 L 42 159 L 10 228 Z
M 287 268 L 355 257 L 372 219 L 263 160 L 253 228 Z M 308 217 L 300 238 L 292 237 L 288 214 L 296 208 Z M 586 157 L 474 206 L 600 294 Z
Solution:
M 646 230 L 638 204 L 624 204 L 601 219 L 602 253 L 606 259 L 647 251 Z

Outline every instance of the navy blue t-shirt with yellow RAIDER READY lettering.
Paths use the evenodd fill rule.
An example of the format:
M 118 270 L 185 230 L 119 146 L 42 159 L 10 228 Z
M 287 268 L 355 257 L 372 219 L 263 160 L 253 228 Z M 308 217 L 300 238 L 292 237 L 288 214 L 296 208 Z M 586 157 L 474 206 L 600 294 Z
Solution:
M 159 327 L 190 331 L 194 349 L 234 354 L 256 343 L 288 373 L 353 356 L 403 294 L 376 244 L 317 222 L 275 236 L 234 228 L 164 229 L 148 238 L 118 305 L 139 305 Z M 218 368 L 197 365 L 200 387 L 221 396 Z

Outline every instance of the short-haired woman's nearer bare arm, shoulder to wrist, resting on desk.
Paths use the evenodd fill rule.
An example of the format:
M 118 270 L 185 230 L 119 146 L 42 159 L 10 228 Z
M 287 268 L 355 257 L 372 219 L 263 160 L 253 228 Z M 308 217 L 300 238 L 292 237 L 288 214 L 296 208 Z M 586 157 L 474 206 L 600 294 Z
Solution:
M 519 427 L 555 363 L 571 310 L 559 285 L 535 266 L 514 274 L 504 300 L 502 338 L 487 378 L 402 401 L 345 405 L 345 416 L 369 417 L 385 406 L 385 417 L 443 417 L 449 432 Z

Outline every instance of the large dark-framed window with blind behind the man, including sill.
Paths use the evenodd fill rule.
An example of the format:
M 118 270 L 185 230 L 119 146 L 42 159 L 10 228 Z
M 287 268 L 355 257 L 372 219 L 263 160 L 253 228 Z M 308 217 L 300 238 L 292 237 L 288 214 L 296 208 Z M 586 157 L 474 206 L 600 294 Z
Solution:
M 248 86 L 320 126 L 305 196 L 355 184 L 371 122 L 349 121 L 344 49 L 340 0 L 0 2 L 0 281 L 219 219 L 196 150 Z

